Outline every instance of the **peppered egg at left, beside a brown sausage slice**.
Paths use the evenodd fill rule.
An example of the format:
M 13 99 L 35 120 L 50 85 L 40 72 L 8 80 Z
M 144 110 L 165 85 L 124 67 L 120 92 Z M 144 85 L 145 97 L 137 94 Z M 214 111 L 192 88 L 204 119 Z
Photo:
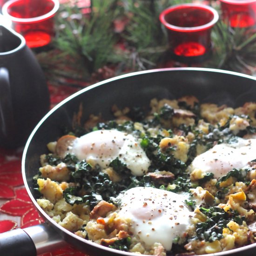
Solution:
M 135 137 L 117 130 L 97 130 L 76 138 L 68 152 L 101 168 L 107 168 L 118 157 L 136 176 L 145 175 L 150 165 Z

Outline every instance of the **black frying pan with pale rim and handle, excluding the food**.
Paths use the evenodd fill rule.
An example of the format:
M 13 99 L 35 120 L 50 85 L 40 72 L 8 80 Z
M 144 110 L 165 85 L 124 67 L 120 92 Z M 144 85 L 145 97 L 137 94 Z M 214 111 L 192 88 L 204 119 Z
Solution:
M 256 101 L 256 78 L 245 74 L 207 68 L 155 69 L 121 75 L 71 95 L 53 108 L 34 128 L 24 149 L 22 175 L 32 202 L 46 223 L 26 229 L 16 229 L 0 236 L 1 256 L 36 255 L 62 246 L 64 241 L 93 256 L 136 255 L 97 245 L 55 223 L 37 204 L 33 191 L 33 176 L 40 167 L 40 155 L 47 152 L 47 143 L 62 134 L 63 126 L 72 127 L 72 118 L 82 104 L 82 122 L 90 114 L 113 118 L 111 106 L 119 108 L 149 106 L 152 98 L 175 99 L 195 95 L 202 103 L 227 104 L 236 108 L 246 101 Z M 256 243 L 243 248 L 208 256 L 256 255 Z

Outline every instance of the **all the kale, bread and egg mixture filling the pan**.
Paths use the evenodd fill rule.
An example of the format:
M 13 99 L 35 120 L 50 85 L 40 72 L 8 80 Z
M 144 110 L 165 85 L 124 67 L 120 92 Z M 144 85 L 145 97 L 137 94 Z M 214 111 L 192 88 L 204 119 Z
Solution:
M 114 121 L 91 115 L 50 142 L 34 177 L 40 207 L 77 236 L 137 254 L 255 243 L 256 103 L 185 96 L 150 109 L 114 106 Z

